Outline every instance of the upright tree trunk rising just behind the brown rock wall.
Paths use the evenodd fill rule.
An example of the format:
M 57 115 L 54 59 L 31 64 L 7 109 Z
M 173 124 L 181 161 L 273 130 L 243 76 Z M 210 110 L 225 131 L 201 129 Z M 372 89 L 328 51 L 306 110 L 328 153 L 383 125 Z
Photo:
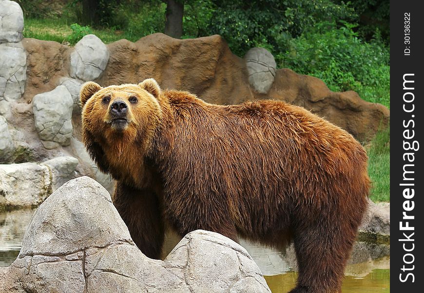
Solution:
M 165 34 L 180 39 L 183 34 L 183 0 L 167 0 Z

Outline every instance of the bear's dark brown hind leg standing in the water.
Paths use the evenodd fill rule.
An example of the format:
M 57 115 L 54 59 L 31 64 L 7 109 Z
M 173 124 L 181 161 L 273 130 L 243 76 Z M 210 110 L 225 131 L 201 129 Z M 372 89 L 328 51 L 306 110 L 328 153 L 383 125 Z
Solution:
M 340 293 L 356 230 L 322 219 L 294 235 L 299 275 L 290 293 Z

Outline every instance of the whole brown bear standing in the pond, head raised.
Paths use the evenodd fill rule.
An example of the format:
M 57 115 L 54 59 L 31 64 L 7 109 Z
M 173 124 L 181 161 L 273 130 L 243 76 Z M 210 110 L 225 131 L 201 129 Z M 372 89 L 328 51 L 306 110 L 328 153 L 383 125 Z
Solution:
M 116 209 L 147 256 L 159 258 L 166 228 L 293 241 L 291 292 L 341 291 L 370 185 L 345 130 L 281 101 L 212 105 L 153 79 L 88 82 L 80 99 L 84 144 L 116 179 Z

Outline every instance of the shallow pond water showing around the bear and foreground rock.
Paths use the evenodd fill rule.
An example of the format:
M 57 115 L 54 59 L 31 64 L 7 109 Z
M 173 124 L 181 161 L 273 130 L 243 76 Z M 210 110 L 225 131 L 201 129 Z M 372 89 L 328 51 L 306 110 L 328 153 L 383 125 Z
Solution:
M 18 256 L 23 234 L 35 209 L 0 210 L 0 267 L 9 266 Z M 167 235 L 166 256 L 180 238 Z M 296 257 L 293 247 L 280 252 L 246 241 L 246 248 L 258 264 L 272 293 L 287 293 L 296 282 Z M 343 293 L 390 292 L 390 244 L 357 241 L 348 261 Z

